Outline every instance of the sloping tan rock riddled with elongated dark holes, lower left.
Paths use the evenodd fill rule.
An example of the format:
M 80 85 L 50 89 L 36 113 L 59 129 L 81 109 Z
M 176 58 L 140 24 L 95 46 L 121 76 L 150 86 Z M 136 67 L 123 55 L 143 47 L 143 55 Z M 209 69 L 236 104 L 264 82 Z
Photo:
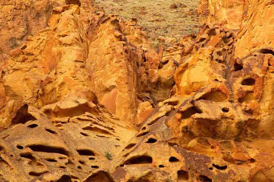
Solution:
M 27 107 L 26 114 L 29 121 L 1 132 L 0 173 L 8 181 L 80 181 L 92 171 L 108 169 L 135 134 L 112 124 L 115 118 L 104 110 L 53 123 L 34 107 Z

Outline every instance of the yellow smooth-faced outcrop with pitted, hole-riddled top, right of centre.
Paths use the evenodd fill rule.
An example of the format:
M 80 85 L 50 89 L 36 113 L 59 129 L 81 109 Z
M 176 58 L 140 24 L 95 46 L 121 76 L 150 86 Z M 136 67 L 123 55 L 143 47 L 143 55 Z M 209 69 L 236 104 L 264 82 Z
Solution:
M 223 25 L 206 25 L 200 29 L 198 36 L 183 37 L 180 42 L 181 64 L 174 74 L 176 92 L 172 94 L 192 96 L 202 87 L 211 87 L 209 85 L 222 89 L 221 85 L 228 74 L 226 64 L 231 59 L 234 40 L 235 32 Z M 223 99 L 221 95 L 216 97 Z

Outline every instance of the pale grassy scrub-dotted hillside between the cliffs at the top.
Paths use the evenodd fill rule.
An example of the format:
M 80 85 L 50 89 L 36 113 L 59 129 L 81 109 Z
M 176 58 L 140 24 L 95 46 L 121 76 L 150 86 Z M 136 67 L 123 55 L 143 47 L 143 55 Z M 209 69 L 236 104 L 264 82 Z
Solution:
M 114 13 L 124 19 L 136 17 L 153 47 L 169 46 L 182 35 L 198 32 L 199 0 L 96 0 L 96 3 L 104 7 L 106 14 Z

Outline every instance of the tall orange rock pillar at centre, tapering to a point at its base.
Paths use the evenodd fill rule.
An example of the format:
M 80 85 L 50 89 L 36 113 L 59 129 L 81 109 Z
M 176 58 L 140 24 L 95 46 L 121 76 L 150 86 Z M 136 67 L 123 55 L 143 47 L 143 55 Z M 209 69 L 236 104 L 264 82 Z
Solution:
M 137 109 L 137 63 L 142 62 L 142 55 L 122 35 L 118 17 L 101 17 L 91 26 L 86 59 L 91 87 L 106 109 L 132 125 Z

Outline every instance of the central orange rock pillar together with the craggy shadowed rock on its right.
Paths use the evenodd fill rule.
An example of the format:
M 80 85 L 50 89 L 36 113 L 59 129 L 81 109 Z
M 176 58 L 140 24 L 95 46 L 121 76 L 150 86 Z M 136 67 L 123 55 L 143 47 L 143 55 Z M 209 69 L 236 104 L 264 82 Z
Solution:
M 177 62 L 152 49 L 135 19 L 123 22 L 112 14 L 97 18 L 88 29 L 91 87 L 106 109 L 128 126 L 138 126 L 134 121 L 140 103 L 155 105 L 169 97 Z

